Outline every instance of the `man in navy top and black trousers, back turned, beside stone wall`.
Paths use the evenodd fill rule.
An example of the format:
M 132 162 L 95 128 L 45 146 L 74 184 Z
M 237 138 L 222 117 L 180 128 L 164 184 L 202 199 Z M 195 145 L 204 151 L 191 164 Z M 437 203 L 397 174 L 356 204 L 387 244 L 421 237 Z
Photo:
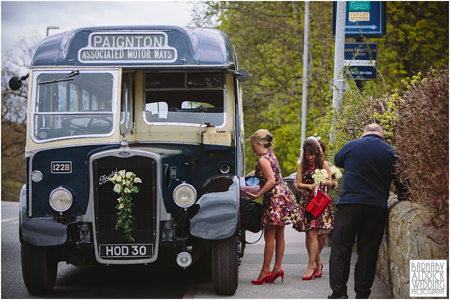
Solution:
M 344 168 L 342 191 L 334 215 L 328 299 L 346 299 L 352 246 L 356 238 L 358 259 L 354 269 L 356 298 L 367 299 L 375 279 L 379 245 L 387 216 L 387 198 L 392 179 L 398 199 L 405 200 L 406 187 L 394 175 L 398 157 L 384 142 L 377 124 L 367 125 L 360 139 L 346 143 L 334 156 Z

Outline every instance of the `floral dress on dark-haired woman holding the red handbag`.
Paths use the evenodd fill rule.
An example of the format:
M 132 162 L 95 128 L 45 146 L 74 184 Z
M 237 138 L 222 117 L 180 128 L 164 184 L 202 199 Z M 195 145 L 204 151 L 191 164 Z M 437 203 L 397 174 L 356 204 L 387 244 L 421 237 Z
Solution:
M 314 165 L 309 165 L 309 168 L 307 169 L 306 173 L 303 174 L 303 183 L 304 184 L 313 184 L 314 181 L 312 180 L 312 174 L 314 173 L 314 170 L 316 168 Z M 320 184 L 319 190 L 321 192 L 325 192 L 325 185 Z M 300 212 L 302 213 L 304 217 L 304 224 L 303 226 L 294 227 L 297 231 L 308 231 L 310 229 L 318 228 L 318 229 L 332 229 L 333 228 L 333 211 L 331 205 L 328 205 L 328 207 L 325 209 L 322 215 L 318 217 L 314 217 L 309 213 L 305 207 L 306 207 L 306 201 L 308 198 L 310 190 L 303 190 L 303 193 L 300 195 L 299 198 L 299 206 L 300 206 Z

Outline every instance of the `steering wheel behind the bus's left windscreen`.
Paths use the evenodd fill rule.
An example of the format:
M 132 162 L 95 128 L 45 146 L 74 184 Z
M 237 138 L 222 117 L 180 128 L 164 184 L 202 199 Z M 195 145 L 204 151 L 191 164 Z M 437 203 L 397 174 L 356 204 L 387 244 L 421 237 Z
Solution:
M 74 122 L 82 119 L 89 119 L 89 121 Z M 112 128 L 112 121 L 99 116 L 73 116 L 63 119 L 61 126 L 77 132 L 99 132 Z

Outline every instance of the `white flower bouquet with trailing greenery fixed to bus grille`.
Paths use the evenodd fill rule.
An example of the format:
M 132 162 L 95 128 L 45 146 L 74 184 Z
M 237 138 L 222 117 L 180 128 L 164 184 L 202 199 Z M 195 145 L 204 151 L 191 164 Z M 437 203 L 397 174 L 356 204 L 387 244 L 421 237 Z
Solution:
M 113 191 L 120 194 L 120 197 L 117 199 L 118 204 L 115 207 L 118 210 L 116 213 L 117 221 L 115 229 L 122 229 L 128 242 L 134 241 L 131 236 L 131 231 L 133 230 L 131 224 L 134 219 L 131 216 L 131 206 L 133 205 L 131 202 L 131 193 L 139 192 L 139 188 L 133 186 L 133 184 L 142 183 L 142 181 L 133 172 L 126 172 L 125 170 L 118 171 L 114 176 L 109 177 L 108 180 L 114 184 Z

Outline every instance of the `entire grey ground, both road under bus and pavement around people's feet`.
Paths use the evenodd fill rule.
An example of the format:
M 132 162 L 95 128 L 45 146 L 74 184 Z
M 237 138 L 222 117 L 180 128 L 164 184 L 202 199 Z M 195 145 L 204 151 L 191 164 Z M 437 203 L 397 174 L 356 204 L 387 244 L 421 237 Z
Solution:
M 212 291 L 210 278 L 199 266 L 155 269 L 151 266 L 74 267 L 61 262 L 53 292 L 44 297 L 31 296 L 23 284 L 20 270 L 18 240 L 18 203 L 1 201 L 1 298 L 2 299 L 326 299 L 331 293 L 328 285 L 330 247 L 321 253 L 322 277 L 302 281 L 307 267 L 304 233 L 285 228 L 286 247 L 282 269 L 284 281 L 255 286 L 262 266 L 263 238 L 245 248 L 239 267 L 239 284 L 233 296 L 219 296 Z M 256 241 L 259 234 L 246 233 L 247 242 Z M 348 296 L 354 298 L 352 256 Z M 273 261 L 272 261 L 273 263 Z M 381 281 L 375 278 L 371 299 L 389 299 Z

